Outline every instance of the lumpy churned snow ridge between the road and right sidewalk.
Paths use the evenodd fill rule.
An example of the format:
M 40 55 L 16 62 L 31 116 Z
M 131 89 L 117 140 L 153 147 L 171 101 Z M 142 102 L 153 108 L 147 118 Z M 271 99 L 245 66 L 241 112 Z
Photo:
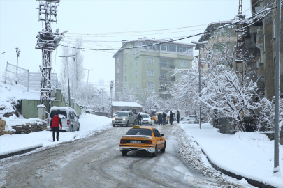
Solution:
M 205 157 L 203 152 L 201 152 L 201 146 L 198 146 L 193 137 L 186 135 L 180 125 L 174 126 L 172 134 L 175 134 L 177 141 L 179 141 L 179 155 L 191 164 L 196 171 L 199 171 L 210 178 L 217 179 L 219 183 L 224 186 L 242 187 L 241 185 L 224 178 L 222 173 L 213 169 L 208 162 L 208 159 Z

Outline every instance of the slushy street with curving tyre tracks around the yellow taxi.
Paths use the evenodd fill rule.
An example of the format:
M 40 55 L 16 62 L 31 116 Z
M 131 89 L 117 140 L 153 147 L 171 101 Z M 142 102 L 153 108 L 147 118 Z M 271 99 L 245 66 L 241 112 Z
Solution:
M 19 185 L 21 187 L 227 187 L 228 185 L 245 187 L 240 186 L 240 181 L 233 178 L 228 178 L 225 182 L 219 178 L 208 178 L 185 162 L 178 154 L 180 148 L 176 135 L 173 134 L 176 125 L 154 125 L 161 134 L 165 134 L 168 143 L 165 153 L 159 152 L 157 157 L 153 158 L 129 152 L 126 157 L 122 157 L 119 151 L 119 139 L 129 128 L 110 127 L 109 123 L 108 125 L 106 123 L 107 120 L 110 121 L 105 117 L 82 115 L 81 125 L 85 122 L 86 126 L 81 126 L 79 132 L 60 132 L 59 139 L 61 139 L 55 143 L 52 142 L 51 132 L 34 133 L 34 135 L 49 136 L 45 138 L 48 139 L 43 143 L 45 146 L 30 152 L 29 155 L 2 159 L 0 185 L 3 187 L 19 187 Z M 71 141 L 71 136 L 83 137 L 90 126 L 93 130 L 99 130 L 99 127 L 100 129 L 108 127 L 108 129 L 96 133 L 94 131 L 92 136 L 87 136 L 85 139 L 68 142 Z M 38 139 L 31 135 L 10 137 L 16 139 L 17 136 L 25 136 Z M 61 144 L 55 145 L 56 143 Z

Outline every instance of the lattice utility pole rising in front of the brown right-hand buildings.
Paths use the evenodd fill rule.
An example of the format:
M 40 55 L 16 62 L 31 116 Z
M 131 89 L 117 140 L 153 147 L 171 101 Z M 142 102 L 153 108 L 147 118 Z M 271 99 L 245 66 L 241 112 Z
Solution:
M 241 19 L 245 18 L 245 15 L 242 15 L 242 0 L 239 0 L 239 10 L 238 10 L 238 18 L 239 23 L 237 24 L 237 29 L 235 32 L 237 33 L 237 45 L 236 45 L 236 56 L 235 56 L 235 72 L 239 75 L 241 79 L 241 83 L 244 82 L 244 59 L 242 56 L 242 46 L 243 46 L 243 38 L 242 35 L 244 31 L 244 23 L 240 22 Z

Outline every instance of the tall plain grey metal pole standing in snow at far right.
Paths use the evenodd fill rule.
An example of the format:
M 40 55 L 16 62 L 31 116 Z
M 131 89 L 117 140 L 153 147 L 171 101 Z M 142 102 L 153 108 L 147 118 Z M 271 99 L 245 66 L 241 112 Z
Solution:
M 277 0 L 276 59 L 275 59 L 275 129 L 274 129 L 274 169 L 273 174 L 280 176 L 279 166 L 279 84 L 280 84 L 280 18 L 281 2 Z

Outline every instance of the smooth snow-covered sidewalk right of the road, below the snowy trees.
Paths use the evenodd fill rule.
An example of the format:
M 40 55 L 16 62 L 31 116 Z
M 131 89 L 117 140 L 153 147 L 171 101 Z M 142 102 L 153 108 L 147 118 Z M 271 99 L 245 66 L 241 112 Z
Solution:
M 273 176 L 274 141 L 258 132 L 221 134 L 209 123 L 180 126 L 208 158 L 220 168 L 246 178 L 283 187 L 283 146 L 280 145 L 281 177 Z

